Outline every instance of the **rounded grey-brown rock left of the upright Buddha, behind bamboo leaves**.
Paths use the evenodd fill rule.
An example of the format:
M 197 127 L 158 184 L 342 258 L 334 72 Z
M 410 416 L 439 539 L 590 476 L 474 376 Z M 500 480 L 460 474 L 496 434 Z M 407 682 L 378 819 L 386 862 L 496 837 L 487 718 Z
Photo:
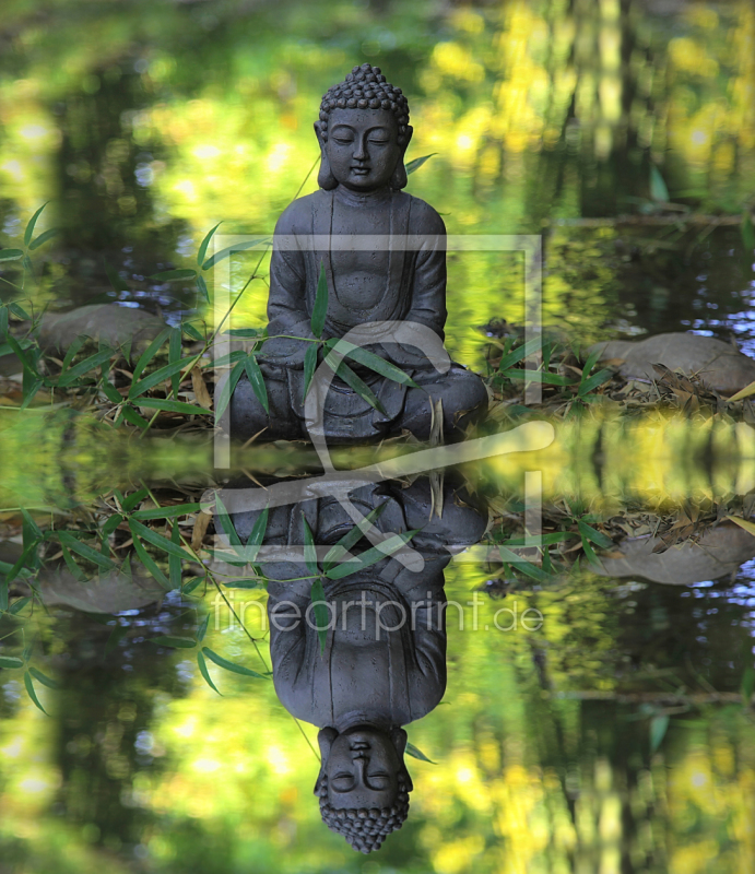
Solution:
M 48 312 L 43 316 L 39 344 L 46 350 L 66 352 L 76 336 L 85 334 L 94 341 L 113 346 L 129 340 L 132 351 L 143 350 L 165 328 L 165 322 L 143 309 L 120 307 L 118 304 L 91 304 L 70 312 Z

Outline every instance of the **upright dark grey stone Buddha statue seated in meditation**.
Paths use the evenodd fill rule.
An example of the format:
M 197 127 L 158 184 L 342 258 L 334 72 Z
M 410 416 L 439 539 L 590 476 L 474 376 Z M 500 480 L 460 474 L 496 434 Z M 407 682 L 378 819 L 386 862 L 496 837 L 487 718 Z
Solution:
M 320 188 L 295 200 L 275 227 L 270 339 L 260 357 L 270 412 L 243 377 L 222 423 L 233 438 L 246 440 L 262 429 L 266 440 L 307 436 L 304 359 L 314 338 L 321 269 L 328 284 L 323 340 L 343 338 L 365 324 L 409 322 L 425 335 L 432 332 L 439 346 L 443 342 L 446 228 L 429 204 L 402 191 L 412 128 L 401 88 L 387 82 L 377 67 L 355 67 L 322 98 L 315 132 L 321 150 Z M 416 345 L 385 336 L 368 349 L 415 385 L 392 381 L 350 359 L 382 409 L 374 409 L 335 377 L 323 402 L 329 442 L 368 441 L 403 429 L 426 439 L 433 408 L 436 415 L 443 410 L 446 438 L 460 439 L 486 410 L 481 378 L 464 367 L 450 363 L 440 373 Z

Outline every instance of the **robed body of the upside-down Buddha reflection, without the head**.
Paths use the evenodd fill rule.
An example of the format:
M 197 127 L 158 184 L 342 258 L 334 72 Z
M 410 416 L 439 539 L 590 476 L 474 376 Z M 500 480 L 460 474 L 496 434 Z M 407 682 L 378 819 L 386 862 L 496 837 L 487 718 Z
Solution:
M 447 486 L 443 517 L 428 519 L 426 481 L 406 489 L 369 485 L 352 493 L 364 515 L 385 504 L 375 522 L 384 533 L 422 528 L 411 545 L 425 565 L 410 570 L 390 557 L 341 580 L 326 579 L 331 619 L 323 654 L 310 609 L 311 580 L 297 579 L 306 575 L 304 566 L 262 564 L 270 578 L 275 692 L 297 719 L 338 731 L 365 721 L 388 728 L 405 725 L 437 706 L 446 688 L 443 571 L 453 547 L 476 542 L 486 522 L 465 497 Z M 353 527 L 337 500 L 303 501 L 270 510 L 264 544 L 303 543 L 303 516 L 317 544 L 334 543 Z M 258 511 L 232 517 L 241 540 L 258 517 Z

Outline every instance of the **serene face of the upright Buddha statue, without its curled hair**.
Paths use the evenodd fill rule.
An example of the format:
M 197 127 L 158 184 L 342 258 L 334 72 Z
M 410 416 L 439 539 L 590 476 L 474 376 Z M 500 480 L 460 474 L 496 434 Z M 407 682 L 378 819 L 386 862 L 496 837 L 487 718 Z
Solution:
M 325 144 L 335 180 L 352 191 L 387 188 L 405 146 L 389 109 L 333 109 Z

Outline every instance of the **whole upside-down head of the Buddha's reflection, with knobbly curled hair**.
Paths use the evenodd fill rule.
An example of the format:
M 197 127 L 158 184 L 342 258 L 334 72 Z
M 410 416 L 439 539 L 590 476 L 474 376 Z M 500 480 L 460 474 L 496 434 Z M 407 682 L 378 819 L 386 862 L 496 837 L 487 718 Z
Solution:
M 315 794 L 322 822 L 363 853 L 380 849 L 409 815 L 414 788 L 403 761 L 406 732 L 357 725 L 318 735 L 322 761 Z

